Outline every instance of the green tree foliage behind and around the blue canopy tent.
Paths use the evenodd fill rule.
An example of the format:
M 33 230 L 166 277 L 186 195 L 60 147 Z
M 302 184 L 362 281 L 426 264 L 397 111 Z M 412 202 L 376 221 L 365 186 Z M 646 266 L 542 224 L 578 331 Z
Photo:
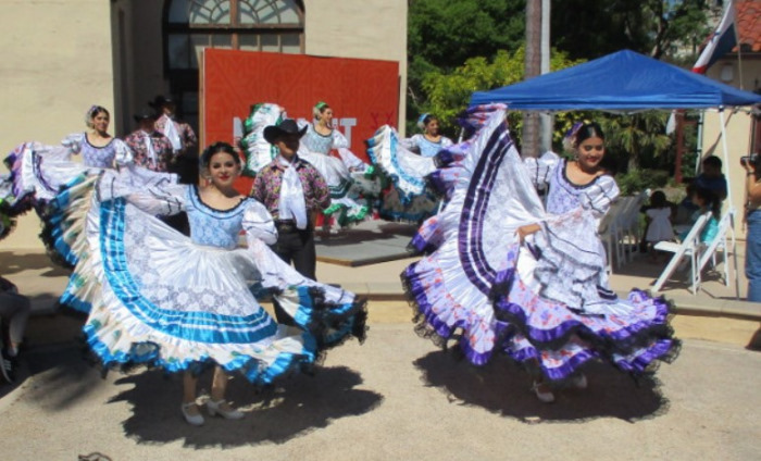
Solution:
M 416 130 L 420 113 L 431 112 L 447 135 L 456 136 L 454 116 L 473 91 L 523 80 L 525 0 L 410 0 L 409 5 L 408 133 Z M 708 0 L 552 0 L 551 70 L 622 49 L 691 64 L 710 32 L 709 10 Z M 553 144 L 561 151 L 571 125 L 592 119 L 606 129 L 620 171 L 673 169 L 668 116 L 559 113 Z M 511 114 L 510 124 L 520 140 L 520 116 Z

